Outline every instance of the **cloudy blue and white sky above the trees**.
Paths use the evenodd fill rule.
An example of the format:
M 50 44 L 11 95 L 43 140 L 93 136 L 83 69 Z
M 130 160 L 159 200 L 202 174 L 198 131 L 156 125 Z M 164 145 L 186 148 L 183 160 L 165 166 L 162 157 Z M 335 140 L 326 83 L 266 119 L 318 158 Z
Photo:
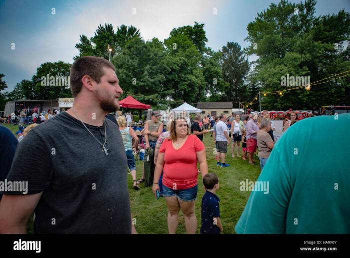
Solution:
M 72 63 L 79 35 L 92 37 L 99 24 L 133 25 L 144 40 L 164 40 L 176 27 L 204 23 L 207 46 L 228 41 L 247 47 L 246 26 L 278 0 L 0 0 L 0 73 L 7 91 L 30 80 L 45 62 Z M 292 3 L 299 3 L 300 0 Z M 52 8 L 55 14 L 52 14 Z M 350 12 L 349 0 L 318 0 L 316 15 Z M 213 10 L 216 9 L 216 14 Z M 13 46 L 15 49 L 11 49 Z M 253 60 L 254 57 L 249 57 Z

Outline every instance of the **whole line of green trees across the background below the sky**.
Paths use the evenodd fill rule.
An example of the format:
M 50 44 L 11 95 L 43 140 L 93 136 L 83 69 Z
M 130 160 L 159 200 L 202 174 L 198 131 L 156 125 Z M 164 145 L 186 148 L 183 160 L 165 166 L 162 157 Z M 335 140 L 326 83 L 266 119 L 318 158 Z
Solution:
M 109 58 L 116 68 L 124 94 L 135 96 L 152 108 L 167 109 L 182 102 L 249 102 L 260 91 L 293 88 L 281 83 L 284 76 L 309 76 L 311 82 L 350 70 L 350 14 L 315 16 L 315 0 L 270 4 L 247 25 L 249 47 L 227 42 L 219 51 L 206 46 L 204 24 L 174 28 L 164 41 L 144 41 L 133 26 L 99 25 L 94 36 L 80 35 L 79 55 Z M 229 32 L 227 32 L 229 33 Z M 249 55 L 256 55 L 254 62 Z M 22 80 L 0 105 L 22 97 L 57 99 L 71 97 L 67 87 L 43 85 L 47 75 L 69 76 L 70 64 L 44 63 L 32 80 Z M 6 84 L 1 80 L 0 90 Z M 350 76 L 310 91 L 298 89 L 282 96 L 262 96 L 263 109 L 310 109 L 313 106 L 349 104 Z M 234 104 L 234 106 L 238 106 Z M 251 106 L 257 110 L 257 102 Z M 0 108 L 1 109 L 1 108 Z M 3 108 L 2 108 L 3 109 Z

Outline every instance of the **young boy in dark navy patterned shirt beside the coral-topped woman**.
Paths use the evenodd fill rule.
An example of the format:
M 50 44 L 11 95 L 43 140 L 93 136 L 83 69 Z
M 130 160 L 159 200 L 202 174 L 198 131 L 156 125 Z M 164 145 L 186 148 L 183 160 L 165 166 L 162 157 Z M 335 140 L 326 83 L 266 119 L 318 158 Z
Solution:
M 217 175 L 207 173 L 203 177 L 203 184 L 206 189 L 201 199 L 201 234 L 219 234 L 222 232 L 220 220 L 219 197 L 215 192 L 219 188 Z

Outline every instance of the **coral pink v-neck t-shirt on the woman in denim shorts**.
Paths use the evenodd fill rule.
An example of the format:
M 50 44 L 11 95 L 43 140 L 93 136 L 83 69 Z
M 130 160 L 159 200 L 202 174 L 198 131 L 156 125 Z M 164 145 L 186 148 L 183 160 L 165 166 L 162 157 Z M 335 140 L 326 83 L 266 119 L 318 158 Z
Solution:
M 197 151 L 204 149 L 204 144 L 197 136 L 188 135 L 185 143 L 178 150 L 172 142 L 165 139 L 159 153 L 164 153 L 163 185 L 171 189 L 188 189 L 197 185 Z

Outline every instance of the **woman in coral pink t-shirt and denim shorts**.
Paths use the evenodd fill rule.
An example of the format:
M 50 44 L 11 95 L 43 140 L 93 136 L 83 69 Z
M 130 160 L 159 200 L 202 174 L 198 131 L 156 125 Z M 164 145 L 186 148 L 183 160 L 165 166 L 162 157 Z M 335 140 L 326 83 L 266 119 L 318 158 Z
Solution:
M 169 234 L 176 233 L 178 212 L 184 215 L 186 232 L 194 234 L 197 220 L 194 203 L 197 197 L 198 169 L 203 177 L 208 172 L 205 147 L 197 136 L 190 134 L 184 119 L 171 122 L 170 137 L 160 146 L 154 170 L 153 193 L 159 191 L 158 180 L 163 171 L 163 195 L 168 208 L 167 227 Z

